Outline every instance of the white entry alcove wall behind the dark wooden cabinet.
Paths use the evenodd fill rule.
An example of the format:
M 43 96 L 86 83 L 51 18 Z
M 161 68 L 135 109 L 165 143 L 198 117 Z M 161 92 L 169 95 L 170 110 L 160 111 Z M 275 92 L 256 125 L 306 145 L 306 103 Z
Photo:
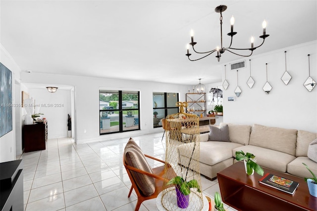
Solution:
M 35 100 L 35 113 L 43 113 L 48 121 L 48 139 L 68 137 L 67 114 L 71 114 L 70 90 L 58 89 L 49 93 L 47 89 L 29 89 Z

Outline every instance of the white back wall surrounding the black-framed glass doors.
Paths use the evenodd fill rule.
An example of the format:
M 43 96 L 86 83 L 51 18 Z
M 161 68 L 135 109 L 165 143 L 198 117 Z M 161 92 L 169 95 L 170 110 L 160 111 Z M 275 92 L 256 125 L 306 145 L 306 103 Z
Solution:
M 153 92 L 180 93 L 180 101 L 185 101 L 186 86 L 93 78 L 82 76 L 67 76 L 42 73 L 21 73 L 22 83 L 65 84 L 75 87 L 75 119 L 76 140 L 78 143 L 109 140 L 140 134 L 161 132 L 162 128 L 153 128 Z M 99 89 L 117 89 L 123 91 L 140 91 L 140 123 L 141 131 L 131 131 L 108 135 L 99 135 Z M 59 90 L 58 90 L 59 91 Z M 58 91 L 56 93 L 58 93 Z M 54 93 L 54 94 L 56 94 Z M 48 93 L 50 94 L 50 93 Z M 38 95 L 36 98 L 41 98 Z M 52 123 L 49 122 L 49 127 Z M 87 132 L 84 133 L 84 130 Z

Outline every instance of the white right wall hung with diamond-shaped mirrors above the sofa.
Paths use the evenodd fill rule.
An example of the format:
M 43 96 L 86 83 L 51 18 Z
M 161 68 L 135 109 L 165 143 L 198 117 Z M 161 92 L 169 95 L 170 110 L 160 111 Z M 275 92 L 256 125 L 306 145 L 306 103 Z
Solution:
M 316 50 L 315 41 L 246 58 L 247 68 L 238 72 L 242 90 L 240 97 L 236 97 L 234 93 L 237 87 L 237 72 L 231 71 L 228 65 L 226 77 L 230 85 L 226 91 L 223 90 L 224 122 L 249 125 L 257 123 L 317 132 L 317 87 L 309 92 L 303 86 L 309 75 L 307 54 L 311 54 L 311 77 L 317 81 Z M 281 80 L 285 72 L 284 51 L 287 52 L 287 71 L 292 76 L 287 86 Z M 247 85 L 250 76 L 249 58 L 252 77 L 256 82 L 252 89 Z M 268 82 L 272 86 L 268 95 L 263 91 L 266 82 L 265 63 Z M 222 71 L 224 80 L 224 65 Z M 228 102 L 228 96 L 235 96 L 235 102 Z

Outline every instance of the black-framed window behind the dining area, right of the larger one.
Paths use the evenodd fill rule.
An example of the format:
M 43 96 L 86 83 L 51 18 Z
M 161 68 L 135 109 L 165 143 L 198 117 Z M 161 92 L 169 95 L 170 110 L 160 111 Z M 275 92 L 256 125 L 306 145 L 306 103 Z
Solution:
M 160 120 L 165 116 L 178 113 L 178 93 L 153 93 L 153 127 L 161 127 Z

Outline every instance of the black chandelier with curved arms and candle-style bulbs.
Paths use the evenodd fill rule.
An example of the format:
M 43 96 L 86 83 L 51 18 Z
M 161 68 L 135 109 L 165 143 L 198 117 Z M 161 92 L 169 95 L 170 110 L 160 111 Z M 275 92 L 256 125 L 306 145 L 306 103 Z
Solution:
M 252 53 L 253 53 L 254 50 L 256 50 L 257 48 L 259 48 L 260 46 L 262 46 L 262 45 L 264 44 L 265 38 L 267 38 L 267 37 L 269 36 L 269 35 L 266 34 L 266 21 L 265 21 L 265 20 L 264 20 L 263 23 L 262 23 L 263 35 L 261 35 L 260 38 L 263 39 L 263 42 L 262 42 L 262 44 L 261 44 L 260 46 L 254 47 L 254 46 L 253 46 L 254 38 L 251 37 L 251 48 L 249 48 L 249 49 L 235 49 L 235 48 L 231 48 L 231 45 L 232 45 L 232 37 L 237 34 L 237 32 L 234 32 L 234 31 L 233 31 L 234 17 L 232 16 L 231 19 L 230 19 L 231 32 L 227 34 L 228 36 L 231 36 L 231 42 L 230 42 L 230 46 L 229 46 L 229 47 L 224 48 L 224 47 L 222 46 L 222 12 L 225 11 L 226 9 L 227 9 L 227 6 L 226 6 L 226 5 L 219 5 L 219 6 L 217 6 L 217 7 L 214 9 L 215 12 L 220 13 L 220 35 L 221 35 L 221 40 L 220 40 L 220 41 L 221 41 L 221 47 L 220 47 L 220 48 L 217 47 L 216 49 L 213 49 L 213 50 L 211 50 L 211 51 L 209 51 L 209 52 L 197 52 L 197 51 L 195 50 L 195 48 L 194 48 L 194 46 L 195 46 L 197 43 L 194 42 L 194 32 L 193 32 L 193 30 L 191 30 L 191 39 L 192 39 L 192 42 L 189 43 L 189 44 L 187 44 L 187 54 L 186 54 L 186 55 L 188 56 L 188 59 L 189 59 L 189 60 L 191 60 L 191 61 L 197 61 L 197 60 L 200 60 L 200 59 L 202 59 L 202 58 L 205 58 L 206 56 L 209 56 L 209 55 L 210 55 L 211 53 L 213 53 L 213 52 L 217 52 L 217 55 L 216 55 L 215 57 L 217 57 L 218 61 L 220 61 L 221 54 L 224 53 L 225 51 L 228 51 L 228 52 L 233 53 L 233 54 L 236 54 L 236 55 L 240 55 L 240 56 L 245 56 L 245 57 L 247 57 L 247 56 L 252 55 Z M 198 58 L 198 59 L 190 59 L 189 56 L 191 55 L 191 53 L 189 53 L 189 45 L 191 45 L 191 46 L 193 47 L 194 52 L 196 52 L 196 53 L 202 53 L 202 54 L 206 54 L 206 53 L 207 53 L 207 55 L 204 55 L 203 57 Z M 232 52 L 231 50 L 249 50 L 249 51 L 251 51 L 251 53 L 250 53 L 249 55 L 242 55 L 242 54 L 239 54 L 239 53 L 234 53 L 234 52 Z

